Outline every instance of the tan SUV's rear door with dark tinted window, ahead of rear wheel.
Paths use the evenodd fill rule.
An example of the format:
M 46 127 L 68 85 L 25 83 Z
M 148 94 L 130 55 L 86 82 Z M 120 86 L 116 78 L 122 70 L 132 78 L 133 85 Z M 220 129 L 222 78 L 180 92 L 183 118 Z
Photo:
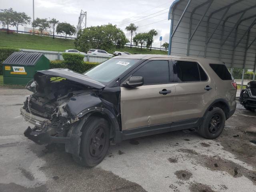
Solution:
M 176 92 L 173 121 L 200 118 L 216 99 L 214 80 L 196 60 L 173 59 Z

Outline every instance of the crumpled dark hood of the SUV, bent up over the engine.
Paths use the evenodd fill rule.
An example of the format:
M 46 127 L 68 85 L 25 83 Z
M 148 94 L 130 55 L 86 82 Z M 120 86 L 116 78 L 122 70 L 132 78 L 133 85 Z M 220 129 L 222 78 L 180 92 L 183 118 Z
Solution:
M 61 82 L 64 80 L 70 80 L 77 82 L 79 84 L 85 85 L 85 86 L 90 86 L 96 89 L 102 89 L 106 87 L 104 84 L 101 82 L 98 82 L 86 75 L 74 72 L 69 69 L 65 68 L 58 68 L 58 69 L 49 69 L 49 70 L 42 70 L 36 72 L 34 75 L 34 80 L 37 80 L 40 78 L 42 75 L 47 75 L 49 78 L 50 83 L 56 83 L 56 82 Z

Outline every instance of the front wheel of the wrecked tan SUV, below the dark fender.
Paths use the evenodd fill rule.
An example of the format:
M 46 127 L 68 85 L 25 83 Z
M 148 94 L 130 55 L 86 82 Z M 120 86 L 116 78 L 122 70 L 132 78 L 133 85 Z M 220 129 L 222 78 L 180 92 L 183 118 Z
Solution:
M 89 117 L 82 130 L 80 158 L 73 158 L 82 166 L 94 167 L 104 159 L 108 147 L 108 122 L 104 118 Z

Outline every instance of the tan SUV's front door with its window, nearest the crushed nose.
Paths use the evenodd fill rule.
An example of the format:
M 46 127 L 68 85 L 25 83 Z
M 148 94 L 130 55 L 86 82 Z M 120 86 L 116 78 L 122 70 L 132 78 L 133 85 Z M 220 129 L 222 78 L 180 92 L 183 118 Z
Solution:
M 132 76 L 142 76 L 144 85 L 121 86 L 122 130 L 171 122 L 175 95 L 171 60 L 148 60 Z M 161 91 L 169 93 L 161 94 Z

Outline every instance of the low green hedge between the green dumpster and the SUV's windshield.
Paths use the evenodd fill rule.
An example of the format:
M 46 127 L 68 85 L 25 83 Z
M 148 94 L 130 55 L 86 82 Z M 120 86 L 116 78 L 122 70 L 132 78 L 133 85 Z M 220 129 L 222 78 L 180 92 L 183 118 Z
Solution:
M 79 73 L 84 73 L 87 70 L 97 66 L 99 63 L 95 63 L 95 62 L 82 62 L 82 63 L 78 63 L 78 64 L 68 64 L 66 61 L 63 60 L 55 60 L 55 61 L 50 61 L 50 68 L 69 68 L 73 71 L 79 72 Z

